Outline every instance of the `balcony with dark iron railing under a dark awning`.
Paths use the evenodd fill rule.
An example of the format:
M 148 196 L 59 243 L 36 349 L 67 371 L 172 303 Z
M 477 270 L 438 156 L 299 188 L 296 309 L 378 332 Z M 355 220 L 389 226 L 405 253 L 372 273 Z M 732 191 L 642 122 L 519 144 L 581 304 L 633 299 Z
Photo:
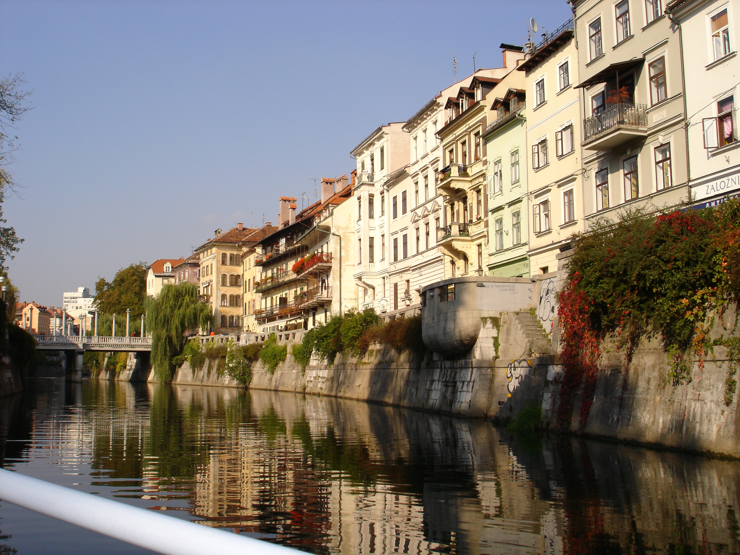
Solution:
M 647 136 L 647 106 L 645 104 L 608 104 L 583 120 L 583 148 L 611 150 L 634 138 Z

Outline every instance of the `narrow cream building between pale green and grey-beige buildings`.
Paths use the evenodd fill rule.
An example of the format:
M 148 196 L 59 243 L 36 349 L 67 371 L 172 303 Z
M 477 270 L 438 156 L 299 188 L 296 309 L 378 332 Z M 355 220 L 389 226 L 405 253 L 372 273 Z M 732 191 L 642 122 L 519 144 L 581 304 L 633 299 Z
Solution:
M 556 272 L 556 255 L 585 229 L 578 50 L 566 21 L 519 66 L 526 75 L 528 236 L 531 274 Z M 544 150 L 544 155 L 542 151 Z M 522 161 L 523 162 L 523 161 Z

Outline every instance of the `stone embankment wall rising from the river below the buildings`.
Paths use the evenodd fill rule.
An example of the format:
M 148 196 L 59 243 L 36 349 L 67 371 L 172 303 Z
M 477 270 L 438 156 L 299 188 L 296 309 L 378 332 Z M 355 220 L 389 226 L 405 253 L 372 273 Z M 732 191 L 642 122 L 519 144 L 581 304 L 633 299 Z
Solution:
M 388 346 L 373 346 L 360 360 L 338 355 L 332 366 L 312 360 L 305 371 L 290 356 L 274 373 L 256 363 L 250 388 L 346 397 L 503 422 L 536 404 L 542 408 L 543 428 L 740 457 L 738 394 L 729 406 L 725 404 L 727 380 L 738 379 L 727 348 L 716 346 L 713 356 L 696 360 L 691 381 L 673 386 L 670 359 L 658 340 L 643 340 L 629 364 L 616 343 L 607 342 L 587 417 L 582 418 L 583 392 L 574 391 L 570 417 L 559 420 L 562 366 L 542 328 L 547 322 L 540 322 L 538 330 L 533 320 L 529 313 L 509 312 L 501 314 L 498 326 L 488 321 L 471 353 L 460 360 L 397 354 Z M 717 318 L 712 334 L 737 336 L 735 330 L 733 310 Z M 129 362 L 126 371 L 108 378 L 155 381 L 152 372 L 137 367 L 133 359 Z M 207 366 L 195 371 L 184 364 L 173 383 L 238 387 L 235 380 Z

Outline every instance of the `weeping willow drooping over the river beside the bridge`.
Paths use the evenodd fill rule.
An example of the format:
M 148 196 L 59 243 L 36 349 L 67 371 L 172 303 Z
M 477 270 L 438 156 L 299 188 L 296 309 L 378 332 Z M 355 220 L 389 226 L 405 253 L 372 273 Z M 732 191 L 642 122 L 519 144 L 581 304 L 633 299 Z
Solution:
M 147 300 L 147 329 L 152 334 L 152 366 L 162 383 L 172 381 L 172 357 L 183 351 L 187 334 L 212 327 L 213 315 L 206 303 L 198 301 L 193 283 L 165 285 L 156 298 Z

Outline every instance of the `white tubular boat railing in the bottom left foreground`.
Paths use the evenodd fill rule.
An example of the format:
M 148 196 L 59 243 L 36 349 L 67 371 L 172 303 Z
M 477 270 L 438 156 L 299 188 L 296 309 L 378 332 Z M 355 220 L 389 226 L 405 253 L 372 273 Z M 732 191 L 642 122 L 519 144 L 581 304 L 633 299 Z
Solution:
M 0 499 L 165 555 L 303 553 L 2 469 Z

